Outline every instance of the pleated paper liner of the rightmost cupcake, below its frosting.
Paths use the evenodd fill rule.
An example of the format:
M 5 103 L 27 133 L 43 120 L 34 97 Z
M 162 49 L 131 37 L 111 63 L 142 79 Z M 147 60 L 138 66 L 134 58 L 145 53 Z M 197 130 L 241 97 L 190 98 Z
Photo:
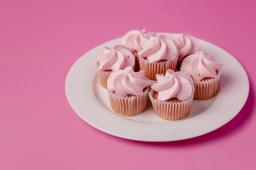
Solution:
M 196 82 L 194 80 L 194 85 L 195 85 L 194 99 L 205 100 L 214 96 L 218 90 L 220 76 L 221 76 L 221 72 L 218 71 L 217 77 L 213 79 L 209 79 L 207 81 L 201 81 L 201 82 Z

